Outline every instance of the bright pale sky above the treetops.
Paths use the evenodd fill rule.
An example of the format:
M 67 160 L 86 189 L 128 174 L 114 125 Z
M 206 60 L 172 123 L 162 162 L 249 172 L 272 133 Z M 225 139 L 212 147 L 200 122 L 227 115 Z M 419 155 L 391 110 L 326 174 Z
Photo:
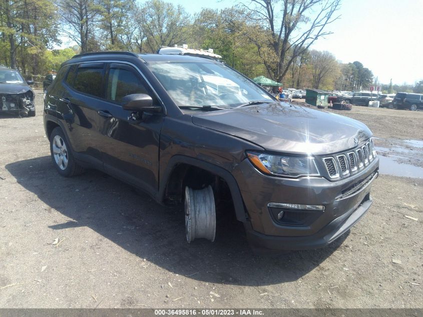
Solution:
M 166 0 L 190 13 L 223 9 L 234 0 Z M 245 0 L 248 4 L 248 0 Z M 341 0 L 340 18 L 326 26 L 333 34 L 312 49 L 329 51 L 342 63 L 359 61 L 378 82 L 414 84 L 423 80 L 423 0 Z

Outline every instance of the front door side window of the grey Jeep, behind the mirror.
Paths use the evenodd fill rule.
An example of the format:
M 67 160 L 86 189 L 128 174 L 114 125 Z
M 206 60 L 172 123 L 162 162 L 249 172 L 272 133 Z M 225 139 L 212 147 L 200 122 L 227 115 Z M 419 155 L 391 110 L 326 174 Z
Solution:
M 132 94 L 149 94 L 135 70 L 127 67 L 112 67 L 109 71 L 107 99 L 120 103 L 122 98 Z

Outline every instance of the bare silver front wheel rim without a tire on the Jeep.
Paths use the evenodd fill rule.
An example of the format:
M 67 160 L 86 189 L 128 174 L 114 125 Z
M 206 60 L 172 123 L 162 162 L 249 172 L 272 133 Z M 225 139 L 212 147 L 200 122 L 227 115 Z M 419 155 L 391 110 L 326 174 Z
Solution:
M 214 241 L 216 206 L 211 186 L 200 190 L 185 187 L 185 234 L 188 243 L 197 238 Z

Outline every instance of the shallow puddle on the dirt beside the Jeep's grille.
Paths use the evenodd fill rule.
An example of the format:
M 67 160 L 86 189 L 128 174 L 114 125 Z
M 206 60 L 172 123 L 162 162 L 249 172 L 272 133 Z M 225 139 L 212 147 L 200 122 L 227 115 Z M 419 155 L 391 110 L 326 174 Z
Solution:
M 423 142 L 423 141 L 422 141 Z M 415 146 L 415 145 L 414 145 Z M 415 151 L 396 148 L 391 149 L 375 146 L 379 157 L 379 173 L 402 177 L 423 178 L 423 168 L 411 164 L 403 163 L 408 160 L 403 154 L 413 153 Z M 394 152 L 394 154 L 392 154 Z M 422 155 L 423 156 L 423 155 Z

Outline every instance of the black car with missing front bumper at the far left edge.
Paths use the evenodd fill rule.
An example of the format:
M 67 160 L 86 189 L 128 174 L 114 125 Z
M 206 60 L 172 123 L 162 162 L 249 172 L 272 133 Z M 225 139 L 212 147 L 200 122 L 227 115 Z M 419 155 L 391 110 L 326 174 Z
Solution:
M 35 94 L 22 75 L 14 69 L 0 67 L 0 112 L 27 113 L 35 116 Z

